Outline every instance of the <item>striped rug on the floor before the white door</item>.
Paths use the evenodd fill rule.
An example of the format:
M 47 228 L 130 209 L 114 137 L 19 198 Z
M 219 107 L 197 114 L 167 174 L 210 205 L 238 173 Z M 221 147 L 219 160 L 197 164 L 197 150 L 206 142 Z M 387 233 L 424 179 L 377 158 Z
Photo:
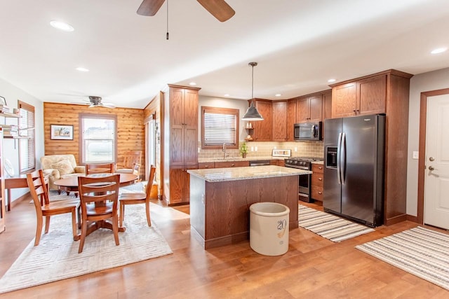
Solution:
M 418 226 L 356 249 L 449 290 L 449 235 Z

